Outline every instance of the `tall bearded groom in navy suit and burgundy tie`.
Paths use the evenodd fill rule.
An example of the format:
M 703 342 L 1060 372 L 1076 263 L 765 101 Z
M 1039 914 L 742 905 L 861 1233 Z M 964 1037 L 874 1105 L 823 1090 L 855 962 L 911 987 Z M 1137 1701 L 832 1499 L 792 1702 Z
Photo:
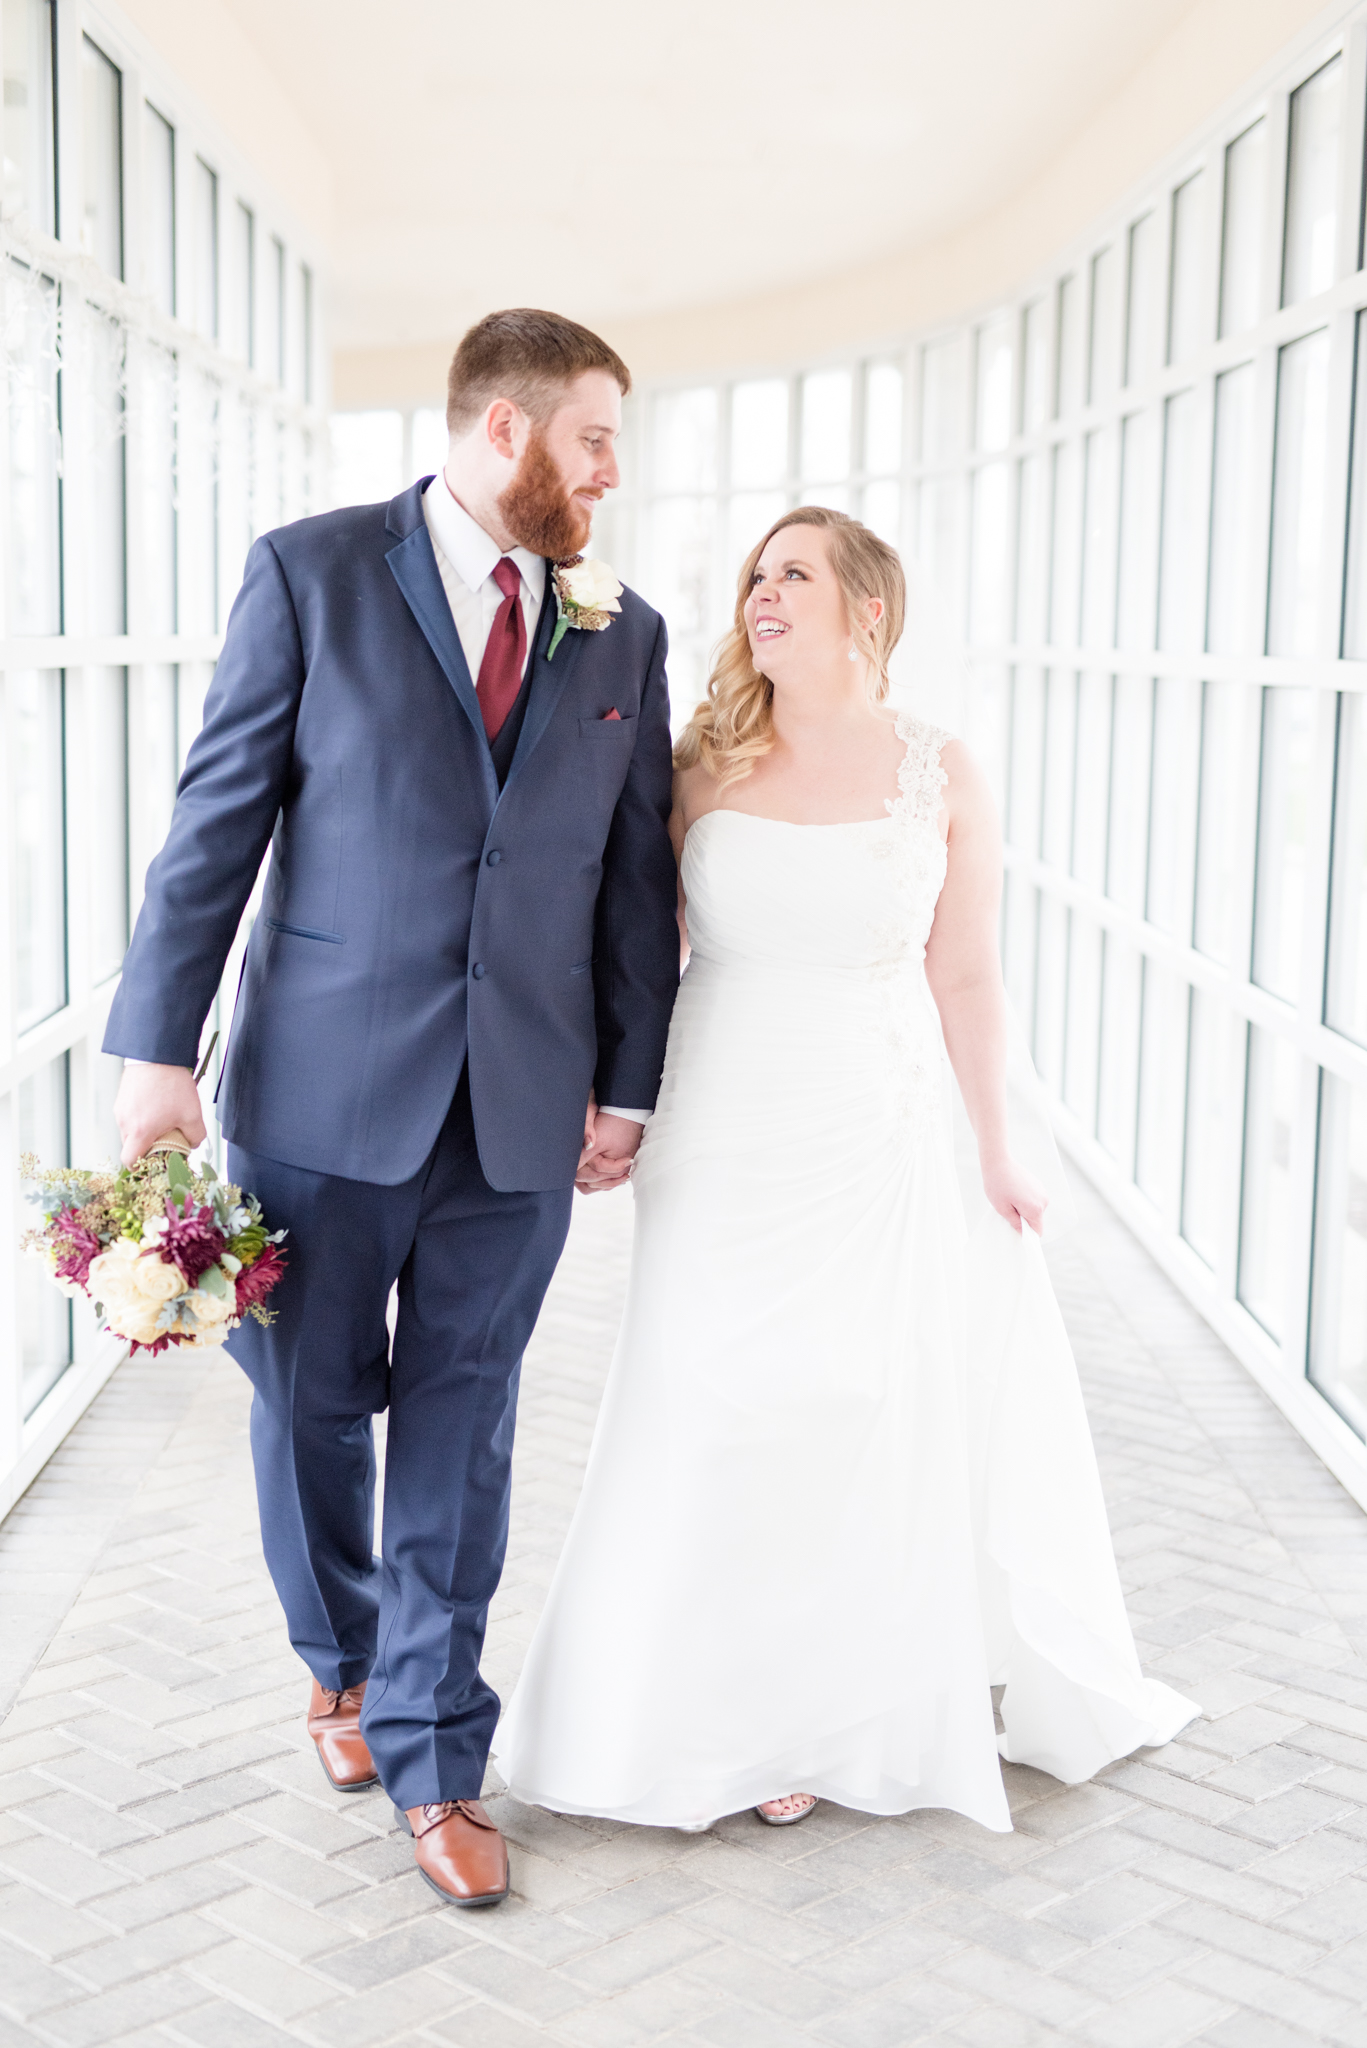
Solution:
M 123 1157 L 199 1143 L 199 1034 L 271 848 L 221 1079 L 230 1176 L 289 1231 L 277 1319 L 232 1339 L 262 1544 L 324 1772 L 379 1780 L 457 1905 L 508 1888 L 480 1651 L 523 1350 L 576 1169 L 625 1178 L 678 985 L 664 623 L 553 567 L 619 481 L 629 387 L 586 328 L 492 313 L 443 475 L 256 541 L 105 1038 Z

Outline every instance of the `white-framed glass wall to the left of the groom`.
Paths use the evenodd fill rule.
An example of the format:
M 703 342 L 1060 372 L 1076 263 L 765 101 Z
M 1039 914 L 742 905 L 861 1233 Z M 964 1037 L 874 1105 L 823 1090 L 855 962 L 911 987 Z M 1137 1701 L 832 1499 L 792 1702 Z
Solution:
M 119 1358 L 18 1255 L 12 1161 L 117 1157 L 141 879 L 246 549 L 326 442 L 314 256 L 174 78 L 78 0 L 2 0 L 0 59 L 2 1513 Z

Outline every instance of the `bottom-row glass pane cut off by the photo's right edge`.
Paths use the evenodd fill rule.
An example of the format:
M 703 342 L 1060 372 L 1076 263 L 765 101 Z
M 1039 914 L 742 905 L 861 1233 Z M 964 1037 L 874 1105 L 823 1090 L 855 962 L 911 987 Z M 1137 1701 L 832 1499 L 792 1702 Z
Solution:
M 1367 1436 L 1367 1087 L 1320 1075 L 1310 1378 Z

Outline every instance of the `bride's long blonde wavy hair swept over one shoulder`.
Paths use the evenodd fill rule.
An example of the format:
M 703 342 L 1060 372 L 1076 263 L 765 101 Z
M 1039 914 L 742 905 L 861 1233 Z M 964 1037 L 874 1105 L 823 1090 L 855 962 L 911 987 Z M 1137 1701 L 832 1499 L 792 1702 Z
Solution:
M 723 788 L 728 782 L 740 782 L 748 776 L 754 762 L 769 754 L 775 743 L 773 684 L 760 676 L 750 659 L 746 598 L 760 555 L 773 537 L 787 526 L 818 526 L 826 535 L 830 567 L 851 614 L 851 637 L 869 662 L 869 698 L 875 705 L 887 696 L 887 662 L 902 639 L 906 575 L 898 551 L 887 541 L 879 541 L 857 518 L 832 512 L 830 506 L 797 506 L 777 518 L 744 559 L 736 590 L 736 618 L 717 649 L 707 678 L 707 696 L 674 743 L 676 768 L 695 768 L 701 762 Z M 873 627 L 863 618 L 867 598 L 883 600 L 883 616 Z

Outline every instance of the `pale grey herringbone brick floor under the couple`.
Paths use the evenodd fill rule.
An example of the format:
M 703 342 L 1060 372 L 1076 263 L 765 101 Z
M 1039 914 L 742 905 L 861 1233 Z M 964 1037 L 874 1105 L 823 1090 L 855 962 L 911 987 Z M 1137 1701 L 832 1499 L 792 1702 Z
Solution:
M 514 1896 L 445 1909 L 383 1796 L 312 1757 L 244 1380 L 129 1366 L 0 1528 L 0 2048 L 1367 2048 L 1367 1520 L 1082 1212 L 1053 1270 L 1142 1655 L 1205 1708 L 1180 1741 L 1076 1790 L 1008 1769 L 1006 1837 L 834 1806 L 693 1837 L 492 1796 Z M 627 1198 L 580 1204 L 529 1354 L 500 1690 L 629 1227 Z

